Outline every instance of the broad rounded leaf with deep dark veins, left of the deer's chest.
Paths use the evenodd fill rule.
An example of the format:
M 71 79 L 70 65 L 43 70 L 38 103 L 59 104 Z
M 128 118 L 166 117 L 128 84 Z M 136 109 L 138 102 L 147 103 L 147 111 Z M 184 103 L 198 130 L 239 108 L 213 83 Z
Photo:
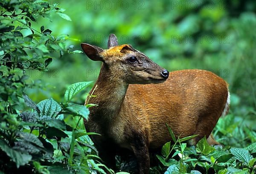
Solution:
M 37 106 L 41 111 L 40 116 L 47 115 L 55 117 L 62 109 L 60 104 L 52 98 L 41 101 Z

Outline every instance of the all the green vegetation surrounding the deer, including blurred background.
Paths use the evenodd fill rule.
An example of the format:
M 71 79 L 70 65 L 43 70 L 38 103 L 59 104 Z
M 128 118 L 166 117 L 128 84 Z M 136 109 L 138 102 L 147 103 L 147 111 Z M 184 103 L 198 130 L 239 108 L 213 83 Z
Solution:
M 125 2 L 0 2 L 0 173 L 113 173 L 83 125 L 93 104 L 80 91 L 99 64 L 79 54 L 81 42 L 106 48 L 110 33 L 164 68 L 207 69 L 230 84 L 230 113 L 213 131 L 222 145 L 188 146 L 169 129 L 175 144 L 151 154 L 152 173 L 255 173 L 256 3 Z M 116 162 L 136 172 L 132 157 Z

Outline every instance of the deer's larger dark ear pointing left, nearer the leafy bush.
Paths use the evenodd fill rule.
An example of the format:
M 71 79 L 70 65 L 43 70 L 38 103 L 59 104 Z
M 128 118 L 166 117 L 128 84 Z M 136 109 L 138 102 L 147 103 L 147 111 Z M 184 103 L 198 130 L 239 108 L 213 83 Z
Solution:
M 81 43 L 81 47 L 84 50 L 84 53 L 93 61 L 103 61 L 102 56 L 100 55 L 104 49 L 98 46 L 92 46 L 87 43 Z

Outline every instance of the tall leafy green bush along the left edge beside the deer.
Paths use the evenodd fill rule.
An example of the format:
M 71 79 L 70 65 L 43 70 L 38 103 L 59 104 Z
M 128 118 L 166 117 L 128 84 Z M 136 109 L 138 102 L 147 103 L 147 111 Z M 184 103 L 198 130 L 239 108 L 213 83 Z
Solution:
M 70 18 L 58 4 L 42 0 L 3 0 L 0 5 L 0 172 L 105 173 L 88 137 L 94 133 L 87 133 L 83 124 L 93 105 L 71 102 L 91 82 L 69 86 L 63 103 L 51 98 L 35 104 L 25 94 L 28 88 L 41 87 L 29 81 L 26 70 L 47 71 L 57 55 L 52 52 L 60 57 L 81 52 L 65 45 L 67 35 L 54 36 L 44 26 L 38 31 L 33 24 L 53 13 Z M 23 30 L 31 34 L 24 35 Z

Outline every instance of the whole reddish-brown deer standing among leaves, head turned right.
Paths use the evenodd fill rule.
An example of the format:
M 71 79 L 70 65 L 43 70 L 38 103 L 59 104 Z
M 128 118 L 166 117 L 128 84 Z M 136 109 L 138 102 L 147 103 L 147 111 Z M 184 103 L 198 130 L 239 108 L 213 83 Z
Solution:
M 166 124 L 175 136 L 197 134 L 190 145 L 209 137 L 230 103 L 228 84 L 216 74 L 199 69 L 169 72 L 129 44 L 118 45 L 110 34 L 108 49 L 81 43 L 84 53 L 101 61 L 99 77 L 89 95 L 87 131 L 99 157 L 116 167 L 117 149 L 132 151 L 138 173 L 149 174 L 149 151 L 171 141 Z M 88 98 L 86 99 L 87 103 Z

